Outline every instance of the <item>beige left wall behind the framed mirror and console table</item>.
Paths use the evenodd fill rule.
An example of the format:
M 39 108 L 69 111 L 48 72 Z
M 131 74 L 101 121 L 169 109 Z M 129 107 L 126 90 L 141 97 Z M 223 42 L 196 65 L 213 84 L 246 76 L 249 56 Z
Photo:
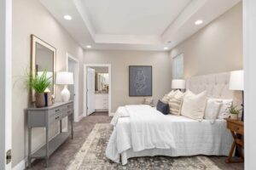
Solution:
M 77 57 L 80 62 L 80 87 L 83 87 L 83 48 L 74 42 L 67 32 L 54 20 L 38 0 L 13 1 L 13 134 L 12 154 L 13 167 L 22 161 L 27 154 L 27 127 L 25 109 L 29 105 L 28 90 L 23 81 L 17 81 L 30 66 L 30 35 L 35 34 L 45 42 L 49 42 L 57 50 L 56 70 L 66 70 L 66 53 Z M 60 99 L 60 88 L 56 89 L 56 100 Z M 82 94 L 82 93 L 81 93 Z M 83 111 L 83 96 L 79 97 L 79 112 Z M 50 135 L 58 131 L 53 126 Z M 44 144 L 44 129 L 32 131 L 33 149 Z

